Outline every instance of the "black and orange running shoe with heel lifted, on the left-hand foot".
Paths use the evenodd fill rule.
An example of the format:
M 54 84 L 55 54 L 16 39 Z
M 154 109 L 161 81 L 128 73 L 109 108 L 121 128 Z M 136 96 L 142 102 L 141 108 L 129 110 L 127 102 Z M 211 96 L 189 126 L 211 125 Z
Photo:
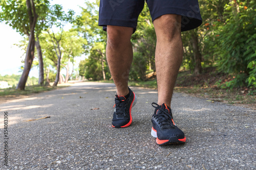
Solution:
M 135 93 L 129 88 L 130 96 L 126 99 L 124 96 L 116 95 L 115 111 L 112 119 L 114 128 L 125 128 L 132 124 L 132 107 L 136 104 L 137 98 Z

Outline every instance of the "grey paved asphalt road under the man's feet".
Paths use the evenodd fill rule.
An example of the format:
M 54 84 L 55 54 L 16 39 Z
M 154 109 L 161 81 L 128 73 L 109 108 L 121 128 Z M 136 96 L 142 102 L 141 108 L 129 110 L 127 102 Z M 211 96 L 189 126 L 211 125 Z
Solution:
M 174 120 L 187 141 L 159 147 L 150 134 L 157 91 L 132 90 L 134 121 L 124 129 L 111 127 L 114 84 L 76 83 L 1 104 L 2 141 L 8 112 L 9 166 L 1 144 L 0 169 L 256 168 L 255 111 L 175 93 Z M 26 122 L 45 116 L 51 117 Z

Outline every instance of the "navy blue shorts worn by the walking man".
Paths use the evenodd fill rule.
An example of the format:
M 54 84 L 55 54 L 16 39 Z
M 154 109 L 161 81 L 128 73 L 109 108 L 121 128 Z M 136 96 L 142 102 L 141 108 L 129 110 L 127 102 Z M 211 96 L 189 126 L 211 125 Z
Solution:
M 182 16 L 181 31 L 195 29 L 202 24 L 198 0 L 146 0 L 154 21 L 164 14 Z M 100 0 L 99 26 L 137 27 L 137 20 L 144 7 L 144 0 Z

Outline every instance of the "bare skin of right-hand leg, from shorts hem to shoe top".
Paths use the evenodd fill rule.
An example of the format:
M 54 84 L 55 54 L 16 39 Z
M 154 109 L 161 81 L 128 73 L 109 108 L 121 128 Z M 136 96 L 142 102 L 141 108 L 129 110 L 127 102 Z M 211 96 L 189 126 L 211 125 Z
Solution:
M 154 20 L 157 35 L 156 72 L 158 104 L 170 107 L 173 90 L 183 57 L 181 16 L 166 14 Z

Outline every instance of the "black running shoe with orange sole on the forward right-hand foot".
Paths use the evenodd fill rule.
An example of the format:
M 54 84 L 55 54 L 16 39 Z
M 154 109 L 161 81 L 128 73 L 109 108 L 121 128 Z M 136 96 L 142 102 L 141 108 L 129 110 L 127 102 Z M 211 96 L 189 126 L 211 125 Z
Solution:
M 156 106 L 154 106 L 154 105 Z M 156 137 L 158 145 L 172 144 L 172 143 L 185 143 L 186 137 L 184 133 L 175 125 L 173 120 L 172 110 L 162 104 L 159 106 L 152 103 L 155 113 L 152 116 L 153 127 L 151 135 Z

